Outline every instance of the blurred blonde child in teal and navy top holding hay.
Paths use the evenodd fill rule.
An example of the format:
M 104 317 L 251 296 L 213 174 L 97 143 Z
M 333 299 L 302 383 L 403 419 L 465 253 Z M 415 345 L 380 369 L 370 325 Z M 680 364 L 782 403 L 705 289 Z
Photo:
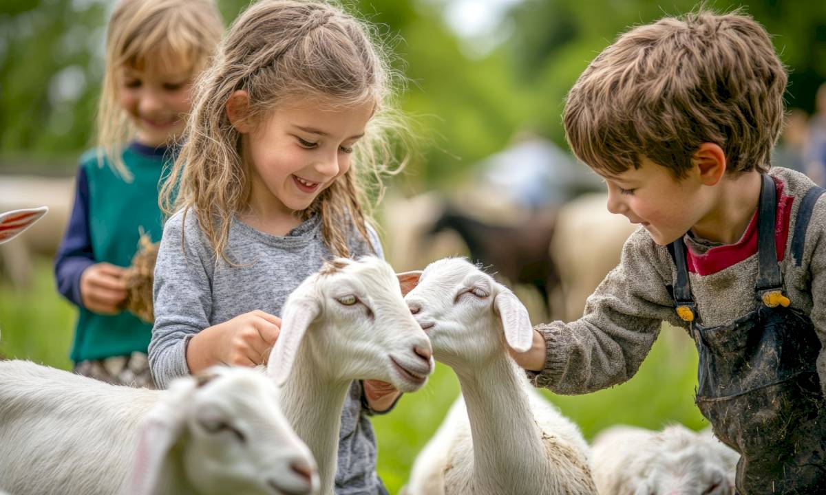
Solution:
M 140 232 L 159 241 L 159 179 L 190 110 L 192 80 L 223 26 L 210 0 L 121 0 L 109 21 L 98 148 L 83 155 L 55 260 L 58 290 L 80 314 L 74 370 L 151 386 L 151 324 L 121 310 Z

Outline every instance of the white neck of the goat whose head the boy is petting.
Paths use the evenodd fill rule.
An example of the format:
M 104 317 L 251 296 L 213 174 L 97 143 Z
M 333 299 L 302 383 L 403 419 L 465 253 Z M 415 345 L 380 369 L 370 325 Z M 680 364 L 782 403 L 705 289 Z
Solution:
M 454 370 L 470 419 L 474 492 L 544 493 L 542 431 L 505 351 Z

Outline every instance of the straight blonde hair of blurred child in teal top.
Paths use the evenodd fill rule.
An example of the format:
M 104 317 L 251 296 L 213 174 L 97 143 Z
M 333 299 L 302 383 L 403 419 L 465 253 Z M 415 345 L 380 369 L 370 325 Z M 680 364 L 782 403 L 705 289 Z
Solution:
M 212 0 L 121 0 L 109 20 L 106 70 L 97 112 L 97 160 L 126 181 L 132 174 L 123 163 L 123 148 L 137 129 L 118 103 L 123 66 L 144 68 L 162 63 L 196 74 L 209 64 L 224 26 Z

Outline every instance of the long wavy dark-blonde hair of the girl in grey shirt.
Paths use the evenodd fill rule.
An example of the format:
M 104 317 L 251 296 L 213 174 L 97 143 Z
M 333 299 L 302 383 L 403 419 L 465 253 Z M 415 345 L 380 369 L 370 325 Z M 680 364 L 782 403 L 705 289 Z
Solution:
M 198 224 L 217 257 L 230 266 L 225 250 L 233 215 L 247 206 L 249 169 L 241 158 L 241 134 L 231 125 L 226 103 L 238 90 L 249 94 L 245 121 L 262 125 L 287 101 L 320 101 L 335 106 L 372 102 L 374 114 L 354 146 L 349 170 L 300 213 L 319 214 L 326 247 L 349 256 L 354 233 L 372 247 L 365 226 L 366 189 L 381 199 L 382 175 L 401 171 L 406 143 L 401 115 L 391 105 L 397 75 L 375 28 L 325 2 L 263 0 L 230 27 L 215 63 L 197 83 L 192 113 L 178 160 L 161 191 L 167 214 L 195 208 Z M 390 136 L 401 139 L 391 142 Z M 395 166 L 394 166 L 395 165 Z

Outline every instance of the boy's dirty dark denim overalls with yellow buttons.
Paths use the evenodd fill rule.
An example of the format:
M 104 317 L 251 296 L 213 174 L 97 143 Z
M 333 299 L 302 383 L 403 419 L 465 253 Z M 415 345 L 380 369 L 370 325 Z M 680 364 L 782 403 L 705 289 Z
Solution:
M 813 187 L 800 203 L 791 255 L 800 266 Z M 815 360 L 820 342 L 806 314 L 783 291 L 775 245 L 776 189 L 762 176 L 757 213 L 758 309 L 737 321 L 704 327 L 686 266 L 682 238 L 668 246 L 676 264 L 674 301 L 700 354 L 696 403 L 714 434 L 737 450 L 737 491 L 826 493 L 826 402 Z

